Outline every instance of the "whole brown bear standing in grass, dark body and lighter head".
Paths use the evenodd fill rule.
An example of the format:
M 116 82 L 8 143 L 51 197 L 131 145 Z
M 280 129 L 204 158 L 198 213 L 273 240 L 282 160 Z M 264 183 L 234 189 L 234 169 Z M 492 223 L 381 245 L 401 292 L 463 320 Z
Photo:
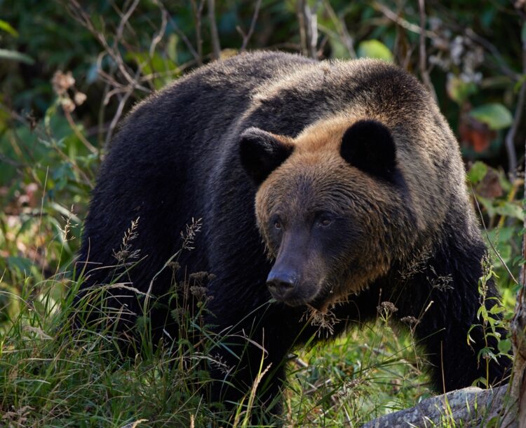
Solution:
M 181 252 L 191 219 L 201 230 Z M 109 289 L 100 316 L 118 314 L 133 336 L 154 296 L 154 340 L 173 340 L 174 301 L 162 296 L 175 254 L 178 280 L 213 275 L 205 323 L 227 338 L 213 351 L 223 368 L 209 367 L 213 401 L 239 402 L 263 364 L 259 398 L 279 411 L 289 352 L 327 336 L 313 319 L 330 314 L 335 337 L 382 302 L 394 322 L 415 323 L 437 391 L 508 373 L 507 358 L 487 373 L 478 361 L 487 249 L 459 145 L 428 90 L 393 64 L 243 53 L 135 106 L 100 167 L 76 302 L 127 284 Z M 119 257 L 133 267 L 102 268 Z M 485 292 L 489 309 L 491 280 Z

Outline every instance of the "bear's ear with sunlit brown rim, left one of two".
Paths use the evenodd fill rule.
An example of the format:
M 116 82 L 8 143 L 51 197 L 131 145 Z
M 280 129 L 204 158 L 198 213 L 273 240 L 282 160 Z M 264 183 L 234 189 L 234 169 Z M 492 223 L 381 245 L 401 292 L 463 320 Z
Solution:
M 290 141 L 257 127 L 245 130 L 239 142 L 241 165 L 258 186 L 290 156 L 292 150 L 294 144 Z

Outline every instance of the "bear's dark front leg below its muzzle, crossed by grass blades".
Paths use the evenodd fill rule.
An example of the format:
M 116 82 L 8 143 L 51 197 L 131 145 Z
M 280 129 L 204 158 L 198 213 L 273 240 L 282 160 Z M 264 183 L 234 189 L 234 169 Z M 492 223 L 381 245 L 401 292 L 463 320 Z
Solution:
M 241 323 L 215 327 L 218 340 L 210 352 L 210 401 L 227 410 L 241 406 L 255 414 L 281 413 L 285 359 L 295 336 L 290 331 L 294 323 L 281 313 L 281 306 L 269 303 Z M 222 317 L 229 319 L 225 311 L 222 308 Z

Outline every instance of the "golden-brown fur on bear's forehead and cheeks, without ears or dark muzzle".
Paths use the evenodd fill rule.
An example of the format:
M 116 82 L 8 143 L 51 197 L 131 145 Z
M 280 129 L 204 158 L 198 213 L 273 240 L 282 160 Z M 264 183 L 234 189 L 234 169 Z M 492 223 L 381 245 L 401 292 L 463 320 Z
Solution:
M 345 116 L 321 120 L 311 125 L 293 139 L 278 137 L 288 144 L 292 142 L 295 150 L 288 160 L 276 169 L 259 187 L 256 195 L 256 213 L 260 232 L 268 244 L 270 239 L 266 230 L 270 216 L 281 210 L 283 216 L 294 216 L 324 210 L 359 216 L 357 222 L 365 228 L 366 239 L 363 247 L 356 248 L 359 254 L 353 259 L 342 258 L 335 272 L 328 271 L 327 263 L 319 257 L 311 257 L 309 272 L 318 279 L 320 291 L 325 293 L 322 308 L 352 293 L 358 293 L 367 284 L 388 272 L 393 258 L 403 258 L 407 242 L 396 242 L 396 237 L 388 237 L 389 228 L 385 219 L 389 212 L 396 209 L 401 201 L 388 186 L 382 186 L 377 180 L 351 167 L 339 156 L 342 135 L 355 120 Z M 409 228 L 405 224 L 391 228 Z M 269 254 L 276 257 L 276 249 L 269 247 Z M 398 254 L 397 254 L 398 252 Z M 346 254 L 348 255 L 348 254 Z M 350 262 L 356 263 L 352 275 L 343 267 Z M 342 281 L 343 279 L 343 281 Z M 307 281 L 308 282 L 308 281 Z

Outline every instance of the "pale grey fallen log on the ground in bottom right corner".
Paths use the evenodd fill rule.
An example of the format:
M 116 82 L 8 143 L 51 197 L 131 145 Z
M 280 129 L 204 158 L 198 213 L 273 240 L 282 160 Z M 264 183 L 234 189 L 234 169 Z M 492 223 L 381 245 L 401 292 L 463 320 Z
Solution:
M 468 387 L 457 389 L 431 399 L 426 399 L 412 408 L 378 417 L 363 425 L 363 428 L 381 427 L 432 427 L 466 426 L 485 427 L 493 417 L 513 415 L 515 408 L 508 405 L 508 385 L 493 389 Z M 464 425 L 461 425 L 464 426 Z M 518 427 L 515 421 L 507 428 Z

